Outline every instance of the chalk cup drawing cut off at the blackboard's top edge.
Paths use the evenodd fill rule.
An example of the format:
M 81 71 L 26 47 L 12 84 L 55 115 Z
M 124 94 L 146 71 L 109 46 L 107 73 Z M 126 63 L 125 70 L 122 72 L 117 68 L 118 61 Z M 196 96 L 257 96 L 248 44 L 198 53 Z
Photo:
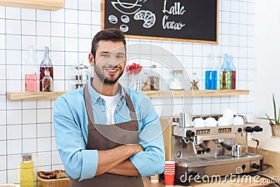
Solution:
M 120 0 L 112 1 L 111 4 L 113 8 L 123 14 L 132 15 L 137 13 L 140 10 L 141 5 L 138 4 L 139 0 L 135 1 L 135 3 L 125 3 Z

